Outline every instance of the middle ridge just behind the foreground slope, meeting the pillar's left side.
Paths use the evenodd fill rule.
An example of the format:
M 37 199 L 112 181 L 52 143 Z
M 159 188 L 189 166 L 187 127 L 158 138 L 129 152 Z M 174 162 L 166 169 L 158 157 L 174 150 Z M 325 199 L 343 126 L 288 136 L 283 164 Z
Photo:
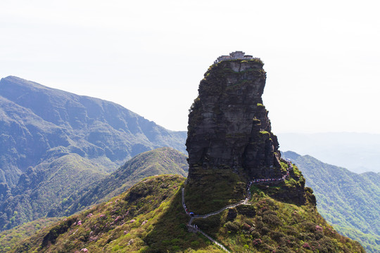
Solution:
M 104 179 L 94 181 L 75 197 L 51 209 L 49 216 L 68 216 L 82 209 L 120 195 L 147 176 L 187 174 L 186 155 L 172 148 L 157 148 L 141 153 Z

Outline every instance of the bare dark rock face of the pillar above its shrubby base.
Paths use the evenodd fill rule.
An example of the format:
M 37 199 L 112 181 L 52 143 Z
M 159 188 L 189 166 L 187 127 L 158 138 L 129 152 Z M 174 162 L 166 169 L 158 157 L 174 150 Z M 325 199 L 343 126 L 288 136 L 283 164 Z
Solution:
M 266 72 L 259 58 L 218 58 L 199 84 L 189 113 L 189 181 L 203 170 L 232 169 L 247 179 L 281 175 L 279 143 L 262 105 Z

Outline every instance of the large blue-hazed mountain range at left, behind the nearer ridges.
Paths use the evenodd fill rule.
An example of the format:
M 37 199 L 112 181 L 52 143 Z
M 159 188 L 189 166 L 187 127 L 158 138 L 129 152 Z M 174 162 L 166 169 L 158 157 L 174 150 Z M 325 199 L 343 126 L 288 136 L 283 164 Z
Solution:
M 122 106 L 18 77 L 0 81 L 0 231 L 38 219 L 135 155 L 186 152 L 170 131 Z

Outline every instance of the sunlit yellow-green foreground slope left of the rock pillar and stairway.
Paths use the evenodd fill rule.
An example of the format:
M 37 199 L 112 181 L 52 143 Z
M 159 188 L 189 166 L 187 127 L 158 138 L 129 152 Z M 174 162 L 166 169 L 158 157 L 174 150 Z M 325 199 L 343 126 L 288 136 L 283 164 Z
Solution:
M 89 252 L 137 252 L 151 248 L 148 245 L 170 250 L 179 243 L 191 247 L 196 240 L 205 249 L 217 250 L 186 232 L 188 217 L 177 205 L 183 183 L 181 176 L 153 176 L 110 202 L 40 231 L 14 252 L 75 252 L 84 247 Z M 166 222 L 167 214 L 176 215 L 170 215 L 170 222 Z

